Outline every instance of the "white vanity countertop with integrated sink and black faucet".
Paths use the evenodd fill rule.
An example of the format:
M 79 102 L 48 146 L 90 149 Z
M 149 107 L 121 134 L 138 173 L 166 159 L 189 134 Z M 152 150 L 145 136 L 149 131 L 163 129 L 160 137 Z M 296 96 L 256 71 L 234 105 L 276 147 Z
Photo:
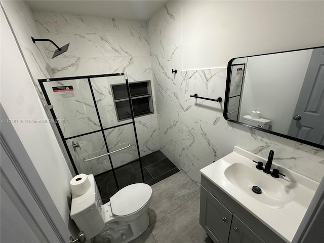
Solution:
M 267 225 L 282 239 L 291 242 L 315 194 L 319 182 L 287 168 L 280 167 L 275 163 L 272 163 L 271 170 L 279 169 L 279 172 L 285 174 L 286 177 L 280 176 L 279 178 L 273 178 L 270 174 L 257 170 L 256 163 L 252 160 L 262 161 L 264 165 L 266 163 L 264 158 L 235 146 L 233 152 L 201 169 L 200 173 Z M 237 178 L 240 176 L 242 180 L 247 182 L 247 185 L 245 183 L 233 184 L 236 175 L 233 174 L 233 179 L 230 181 L 228 174 L 226 176 L 229 170 L 225 172 L 233 164 L 244 164 L 249 167 L 245 168 L 253 172 L 253 175 L 256 175 L 256 177 L 260 176 L 260 178 L 251 179 L 251 174 L 250 179 L 252 182 L 249 184 L 249 178 L 244 178 L 244 174 L 238 175 L 239 171 L 235 171 Z M 236 168 L 241 167 L 244 166 L 238 165 Z M 255 172 L 250 168 L 255 170 Z M 267 193 L 267 189 L 262 188 L 260 185 L 258 186 L 261 187 L 263 192 L 261 194 L 254 193 L 251 188 L 256 181 L 259 181 L 261 184 L 264 184 L 266 181 L 267 184 L 264 187 L 268 187 L 270 193 Z M 274 187 L 274 185 L 279 190 L 273 190 L 271 186 Z M 271 197 L 271 195 L 274 196 Z

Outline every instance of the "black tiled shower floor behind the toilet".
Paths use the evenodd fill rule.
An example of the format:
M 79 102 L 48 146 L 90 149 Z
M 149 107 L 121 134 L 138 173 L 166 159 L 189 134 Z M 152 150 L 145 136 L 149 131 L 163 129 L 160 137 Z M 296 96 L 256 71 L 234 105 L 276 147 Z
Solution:
M 145 183 L 153 185 L 179 172 L 179 169 L 159 150 L 141 158 Z M 119 189 L 141 183 L 142 176 L 139 161 L 115 169 Z M 95 177 L 103 203 L 117 192 L 112 172 Z

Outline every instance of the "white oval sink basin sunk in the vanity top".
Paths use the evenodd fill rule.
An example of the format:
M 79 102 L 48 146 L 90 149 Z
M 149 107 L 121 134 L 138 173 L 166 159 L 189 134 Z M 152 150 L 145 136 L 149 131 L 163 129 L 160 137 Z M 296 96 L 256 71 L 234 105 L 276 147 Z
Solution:
M 295 193 L 291 188 L 278 182 L 276 178 L 269 177 L 261 170 L 251 168 L 245 164 L 234 163 L 227 167 L 224 172 L 225 177 L 242 193 L 259 200 L 260 203 L 271 208 L 282 208 L 294 197 Z M 261 188 L 261 194 L 252 191 L 253 186 Z

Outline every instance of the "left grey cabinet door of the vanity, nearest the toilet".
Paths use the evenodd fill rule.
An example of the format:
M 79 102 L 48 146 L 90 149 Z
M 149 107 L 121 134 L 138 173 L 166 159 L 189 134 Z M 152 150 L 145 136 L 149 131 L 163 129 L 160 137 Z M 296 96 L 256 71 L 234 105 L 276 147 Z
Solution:
M 232 216 L 212 194 L 200 187 L 199 223 L 214 242 L 227 242 Z

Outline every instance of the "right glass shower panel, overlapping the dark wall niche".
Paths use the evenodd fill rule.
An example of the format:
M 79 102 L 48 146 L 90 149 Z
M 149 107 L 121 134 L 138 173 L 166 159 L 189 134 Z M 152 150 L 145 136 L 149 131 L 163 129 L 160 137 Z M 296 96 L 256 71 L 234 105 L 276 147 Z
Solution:
M 94 91 L 98 112 L 102 122 L 104 136 L 107 141 L 108 151 L 112 152 L 110 155 L 111 163 L 115 168 L 115 176 L 118 182 L 119 189 L 129 184 L 143 182 L 142 173 L 138 171 L 138 167 L 131 166 L 133 162 L 138 161 L 139 151 L 137 136 L 134 128 L 134 118 L 131 116 L 129 94 L 127 90 L 120 92 L 123 99 L 120 102 L 128 103 L 124 106 L 123 113 L 131 116 L 128 119 L 118 120 L 117 109 L 118 102 L 114 102 L 113 87 L 116 84 L 125 84 L 123 77 L 96 77 L 91 79 L 91 85 Z M 119 103 L 120 103 L 119 102 Z M 120 106 L 119 106 L 120 107 Z M 135 168 L 135 169 L 134 169 Z M 140 173 L 139 173 L 140 172 Z M 102 177 L 102 176 L 101 176 Z M 105 177 L 104 183 L 107 185 L 107 190 L 111 196 L 114 188 L 113 175 L 103 175 Z

